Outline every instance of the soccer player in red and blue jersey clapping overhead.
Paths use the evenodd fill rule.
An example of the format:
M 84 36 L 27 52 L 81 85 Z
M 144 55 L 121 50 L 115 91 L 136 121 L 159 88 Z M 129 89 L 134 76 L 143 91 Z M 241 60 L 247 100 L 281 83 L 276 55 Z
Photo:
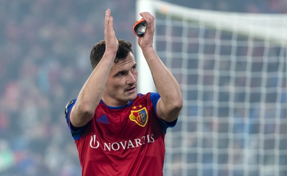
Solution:
M 163 175 L 165 133 L 176 125 L 183 102 L 179 84 L 153 48 L 154 17 L 140 15 L 147 27 L 138 44 L 158 92 L 137 93 L 131 43 L 116 38 L 108 9 L 105 40 L 90 55 L 93 71 L 65 111 L 82 176 Z

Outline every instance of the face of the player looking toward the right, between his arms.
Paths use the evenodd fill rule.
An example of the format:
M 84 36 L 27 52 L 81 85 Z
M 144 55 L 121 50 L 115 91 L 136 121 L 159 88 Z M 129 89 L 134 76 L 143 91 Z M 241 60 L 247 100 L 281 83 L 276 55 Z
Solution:
M 127 105 L 137 97 L 136 66 L 134 55 L 129 53 L 125 59 L 120 59 L 111 67 L 102 98 L 108 106 Z

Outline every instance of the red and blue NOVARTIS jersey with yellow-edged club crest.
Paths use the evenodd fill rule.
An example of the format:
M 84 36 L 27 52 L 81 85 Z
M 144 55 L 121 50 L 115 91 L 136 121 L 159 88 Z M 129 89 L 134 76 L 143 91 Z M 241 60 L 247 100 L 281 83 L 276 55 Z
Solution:
M 158 93 L 138 94 L 126 106 L 110 107 L 103 101 L 83 127 L 73 127 L 66 106 L 66 119 L 75 141 L 82 176 L 162 176 L 164 138 L 168 127 L 157 117 Z

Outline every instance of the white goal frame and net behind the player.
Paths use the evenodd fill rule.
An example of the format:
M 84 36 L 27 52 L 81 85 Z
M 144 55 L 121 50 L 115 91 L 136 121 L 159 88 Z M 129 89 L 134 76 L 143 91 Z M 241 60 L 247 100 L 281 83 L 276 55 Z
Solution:
M 143 11 L 155 16 L 154 47 L 184 100 L 164 175 L 287 176 L 287 15 L 138 0 Z M 139 90 L 153 91 L 137 55 Z

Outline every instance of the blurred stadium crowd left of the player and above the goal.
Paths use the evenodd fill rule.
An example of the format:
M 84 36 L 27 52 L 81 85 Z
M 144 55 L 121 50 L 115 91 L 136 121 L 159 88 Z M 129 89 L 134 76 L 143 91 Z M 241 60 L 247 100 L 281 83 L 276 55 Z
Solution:
M 287 13 L 286 0 L 166 0 L 191 8 Z M 135 0 L 0 0 L 0 175 L 79 176 L 64 107 L 91 72 L 110 8 L 130 40 Z

